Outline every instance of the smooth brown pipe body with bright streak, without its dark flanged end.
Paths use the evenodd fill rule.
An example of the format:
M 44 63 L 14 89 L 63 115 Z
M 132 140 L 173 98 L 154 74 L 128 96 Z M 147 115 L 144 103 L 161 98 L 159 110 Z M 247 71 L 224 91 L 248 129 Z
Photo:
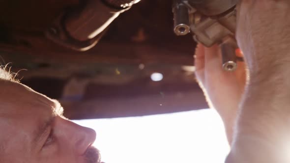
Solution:
M 85 41 L 101 33 L 121 12 L 100 0 L 87 0 L 82 7 L 66 14 L 64 27 L 70 36 Z

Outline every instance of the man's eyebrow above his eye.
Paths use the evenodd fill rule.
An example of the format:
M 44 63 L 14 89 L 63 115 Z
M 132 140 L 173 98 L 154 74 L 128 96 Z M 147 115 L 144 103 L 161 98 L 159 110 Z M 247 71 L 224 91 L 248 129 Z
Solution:
M 32 150 L 35 149 L 36 145 L 40 140 L 46 136 L 47 130 L 52 126 L 56 116 L 51 117 L 48 121 L 44 122 L 42 125 L 34 131 L 34 138 L 32 139 Z

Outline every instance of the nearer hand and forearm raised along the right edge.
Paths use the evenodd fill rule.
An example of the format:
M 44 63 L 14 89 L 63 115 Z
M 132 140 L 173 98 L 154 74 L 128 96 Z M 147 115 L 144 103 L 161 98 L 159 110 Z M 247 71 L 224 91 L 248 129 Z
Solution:
M 249 68 L 226 163 L 290 163 L 290 1 L 241 0 L 237 42 Z

